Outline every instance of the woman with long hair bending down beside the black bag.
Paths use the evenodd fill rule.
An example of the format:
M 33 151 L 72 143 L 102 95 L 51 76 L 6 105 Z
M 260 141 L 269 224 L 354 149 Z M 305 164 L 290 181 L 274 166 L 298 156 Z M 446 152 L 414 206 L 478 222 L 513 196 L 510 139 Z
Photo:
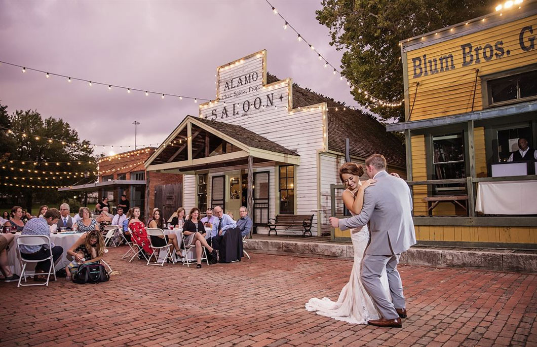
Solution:
M 73 257 L 73 266 L 66 267 L 66 272 L 70 276 L 71 268 L 74 264 L 81 265 L 84 263 L 97 263 L 104 256 L 104 240 L 98 230 L 92 230 L 89 233 L 84 233 L 76 240 L 75 244 L 67 251 L 69 256 Z M 67 278 L 66 278 L 67 279 Z M 69 279 L 67 279 L 69 280 Z

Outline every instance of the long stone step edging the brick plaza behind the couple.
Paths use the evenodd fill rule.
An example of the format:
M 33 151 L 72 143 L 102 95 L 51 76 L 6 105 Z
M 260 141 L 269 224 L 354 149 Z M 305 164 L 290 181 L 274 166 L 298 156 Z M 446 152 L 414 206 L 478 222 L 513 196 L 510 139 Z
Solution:
M 244 249 L 288 256 L 353 259 L 351 244 L 326 239 L 248 239 Z M 401 264 L 537 272 L 537 251 L 413 246 L 401 255 Z

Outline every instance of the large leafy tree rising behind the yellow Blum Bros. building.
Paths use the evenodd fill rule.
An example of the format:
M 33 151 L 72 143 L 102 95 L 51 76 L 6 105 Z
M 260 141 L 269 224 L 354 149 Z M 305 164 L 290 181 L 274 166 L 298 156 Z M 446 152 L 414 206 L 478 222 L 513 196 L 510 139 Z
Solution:
M 491 0 L 323 0 L 317 20 L 330 29 L 330 45 L 346 49 L 343 75 L 371 95 L 401 101 L 403 63 L 399 41 L 489 13 Z M 383 119 L 404 121 L 401 107 L 379 107 L 355 88 L 354 100 Z

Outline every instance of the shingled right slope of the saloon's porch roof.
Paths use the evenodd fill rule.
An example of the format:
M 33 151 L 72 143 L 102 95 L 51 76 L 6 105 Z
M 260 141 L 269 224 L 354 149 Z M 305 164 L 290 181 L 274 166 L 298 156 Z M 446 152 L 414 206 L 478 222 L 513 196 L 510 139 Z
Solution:
M 296 152 L 288 150 L 284 146 L 279 145 L 253 131 L 243 128 L 240 125 L 217 122 L 197 117 L 195 119 L 196 121 L 207 124 L 208 126 L 211 126 L 211 128 L 226 134 L 227 136 L 245 144 L 248 147 L 259 148 L 260 150 L 266 150 L 276 153 L 296 155 L 297 157 L 299 156 L 299 154 L 297 154 Z

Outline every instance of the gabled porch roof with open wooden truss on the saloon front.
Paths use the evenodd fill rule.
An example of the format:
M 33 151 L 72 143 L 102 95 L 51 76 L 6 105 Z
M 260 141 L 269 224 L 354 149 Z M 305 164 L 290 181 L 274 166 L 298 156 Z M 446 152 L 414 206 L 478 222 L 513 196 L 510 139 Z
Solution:
M 300 156 L 239 125 L 187 116 L 144 164 L 148 171 L 197 169 L 274 161 L 299 165 Z

